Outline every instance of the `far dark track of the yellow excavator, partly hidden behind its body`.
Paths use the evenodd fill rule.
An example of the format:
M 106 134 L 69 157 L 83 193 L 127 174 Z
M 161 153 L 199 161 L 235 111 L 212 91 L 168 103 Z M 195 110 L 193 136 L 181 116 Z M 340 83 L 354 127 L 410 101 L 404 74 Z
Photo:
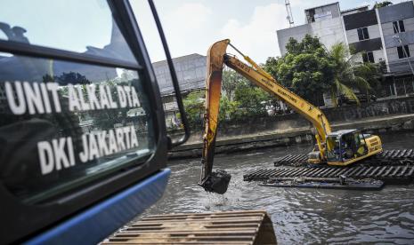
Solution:
M 276 159 L 274 166 L 304 166 L 307 164 L 307 160 L 307 154 L 288 154 Z M 361 164 L 372 166 L 401 165 L 406 163 L 414 165 L 414 149 L 385 150 L 380 154 L 361 161 Z

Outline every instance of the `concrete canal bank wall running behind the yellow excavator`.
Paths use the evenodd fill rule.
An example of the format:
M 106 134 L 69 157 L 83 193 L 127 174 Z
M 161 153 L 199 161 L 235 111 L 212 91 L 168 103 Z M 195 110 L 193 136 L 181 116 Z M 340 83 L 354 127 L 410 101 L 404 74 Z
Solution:
M 359 129 L 365 133 L 386 133 L 396 131 L 413 131 L 414 114 L 387 115 L 362 118 L 346 122 L 334 122 L 332 130 Z M 249 125 L 261 128 L 261 125 Z M 238 136 L 217 136 L 215 153 L 231 153 L 255 148 L 289 146 L 304 142 L 313 142 L 313 127 L 290 128 L 287 130 L 263 130 L 252 134 Z M 183 146 L 178 146 L 169 153 L 170 159 L 199 157 L 202 151 L 202 137 L 198 133 Z

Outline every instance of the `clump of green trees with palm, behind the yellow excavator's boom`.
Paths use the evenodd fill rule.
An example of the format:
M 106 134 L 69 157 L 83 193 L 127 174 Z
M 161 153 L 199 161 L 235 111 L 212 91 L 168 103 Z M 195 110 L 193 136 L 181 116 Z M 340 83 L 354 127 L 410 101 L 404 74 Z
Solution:
M 355 54 L 343 43 L 326 51 L 318 37 L 306 35 L 301 42 L 290 38 L 286 49 L 284 57 L 267 59 L 264 70 L 316 106 L 321 106 L 323 93 L 329 93 L 337 105 L 341 94 L 358 102 L 355 90 L 369 93 L 379 86 L 378 66 L 354 63 Z

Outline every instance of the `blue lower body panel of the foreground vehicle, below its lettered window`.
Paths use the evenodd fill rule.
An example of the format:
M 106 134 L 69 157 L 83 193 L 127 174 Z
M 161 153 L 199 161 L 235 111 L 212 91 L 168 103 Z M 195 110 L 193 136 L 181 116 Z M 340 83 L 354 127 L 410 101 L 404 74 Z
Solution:
M 160 170 L 25 244 L 95 244 L 102 241 L 158 201 L 166 189 L 170 172 L 169 169 Z

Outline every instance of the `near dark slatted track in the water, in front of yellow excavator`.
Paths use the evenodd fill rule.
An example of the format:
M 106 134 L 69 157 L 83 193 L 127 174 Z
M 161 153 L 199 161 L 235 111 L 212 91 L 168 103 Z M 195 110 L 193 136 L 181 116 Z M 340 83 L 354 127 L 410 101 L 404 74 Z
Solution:
M 353 167 L 277 167 L 256 170 L 243 176 L 245 181 L 288 180 L 313 178 L 320 182 L 332 178 L 375 179 L 385 184 L 408 184 L 414 177 L 414 165 L 353 166 Z

